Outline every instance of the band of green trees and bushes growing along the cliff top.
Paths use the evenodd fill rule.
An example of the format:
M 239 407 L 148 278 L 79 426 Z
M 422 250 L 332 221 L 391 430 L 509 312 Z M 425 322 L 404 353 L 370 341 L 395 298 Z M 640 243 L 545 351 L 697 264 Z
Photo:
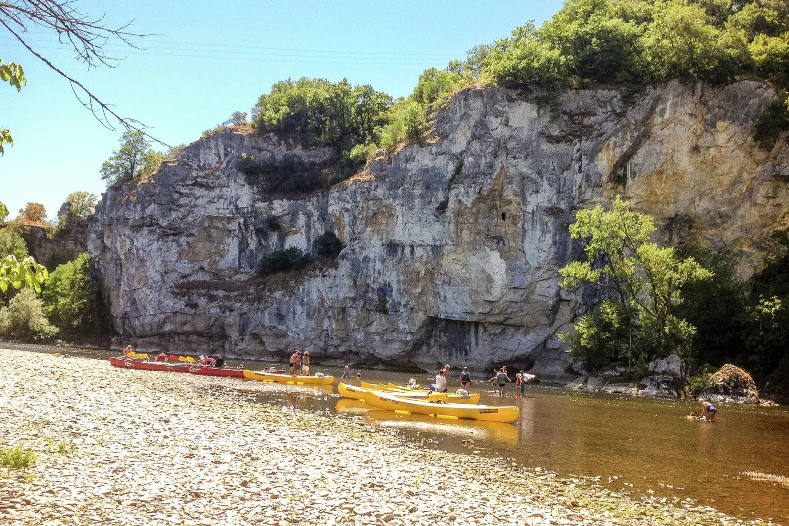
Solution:
M 769 143 L 789 127 L 789 0 L 567 0 L 540 27 L 529 21 L 465 61 L 425 70 L 398 100 L 347 80 L 278 82 L 252 108 L 252 126 L 361 162 L 376 148 L 418 141 L 432 114 L 469 85 L 555 92 L 675 78 L 774 85 L 779 100 L 757 130 Z

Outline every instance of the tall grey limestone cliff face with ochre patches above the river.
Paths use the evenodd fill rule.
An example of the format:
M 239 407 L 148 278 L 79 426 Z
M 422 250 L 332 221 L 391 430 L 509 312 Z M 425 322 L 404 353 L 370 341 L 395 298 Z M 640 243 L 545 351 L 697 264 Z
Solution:
M 789 149 L 758 148 L 752 126 L 773 92 L 671 83 L 638 94 L 567 92 L 538 105 L 503 89 L 460 92 L 426 145 L 368 164 L 331 190 L 271 199 L 235 168 L 242 152 L 320 160 L 275 137 L 230 129 L 185 148 L 155 182 L 113 188 L 89 253 L 123 343 L 322 363 L 532 366 L 567 375 L 556 334 L 591 298 L 560 290 L 580 255 L 578 209 L 630 197 L 669 242 L 761 262 L 787 227 Z M 282 229 L 266 232 L 265 219 Z M 335 231 L 334 264 L 265 279 L 260 258 L 311 250 Z

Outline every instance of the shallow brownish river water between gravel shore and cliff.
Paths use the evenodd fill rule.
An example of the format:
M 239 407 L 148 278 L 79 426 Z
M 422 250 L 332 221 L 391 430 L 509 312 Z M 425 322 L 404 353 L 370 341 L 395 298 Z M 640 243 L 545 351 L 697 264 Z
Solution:
M 13 348 L 64 351 L 43 346 Z M 100 359 L 108 356 L 107 351 L 66 352 Z M 249 368 L 263 365 L 249 364 Z M 313 365 L 312 369 L 334 374 L 335 386 L 342 375 L 342 370 L 335 367 Z M 361 373 L 363 378 L 347 382 L 402 384 L 416 378 L 422 384 L 429 383 L 428 378 L 416 374 L 382 370 Z M 215 380 L 244 390 L 245 381 Z M 580 393 L 545 385 L 527 386 L 523 398 L 514 396 L 513 386 L 502 399 L 492 396 L 489 384 L 477 382 L 471 390 L 482 394 L 482 404 L 517 405 L 521 416 L 512 424 L 475 423 L 371 409 L 364 402 L 339 397 L 335 386 L 257 396 L 261 403 L 361 419 L 424 447 L 505 457 L 563 476 L 600 476 L 601 483 L 612 491 L 636 499 L 642 495 L 665 498 L 667 502 L 690 498 L 694 505 L 709 505 L 742 519 L 789 524 L 789 408 L 719 404 L 717 421 L 708 423 L 686 418 L 690 411 L 700 411 L 700 404 L 692 401 Z M 458 387 L 457 374 L 454 381 L 451 378 L 450 387 Z M 461 444 L 466 438 L 473 439 L 472 448 Z M 447 475 L 461 476 L 462 466 L 450 468 Z

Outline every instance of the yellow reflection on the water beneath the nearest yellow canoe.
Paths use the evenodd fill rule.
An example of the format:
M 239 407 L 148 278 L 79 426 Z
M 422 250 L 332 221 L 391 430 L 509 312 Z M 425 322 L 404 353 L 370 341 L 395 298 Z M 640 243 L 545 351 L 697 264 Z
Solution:
M 518 441 L 518 427 L 504 422 L 484 422 L 481 420 L 447 420 L 428 415 L 396 413 L 385 409 L 371 409 L 365 412 L 368 422 L 384 427 L 413 429 L 452 434 L 461 438 L 495 438 L 507 442 Z

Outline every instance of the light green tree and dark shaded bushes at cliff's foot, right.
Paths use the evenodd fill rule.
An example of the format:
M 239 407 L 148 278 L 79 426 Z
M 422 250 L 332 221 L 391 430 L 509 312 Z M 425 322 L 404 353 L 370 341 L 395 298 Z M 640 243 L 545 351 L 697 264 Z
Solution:
M 705 391 L 724 364 L 742 367 L 771 396 L 780 396 L 789 365 L 789 237 L 750 280 L 739 280 L 734 254 L 652 241 L 651 216 L 616 197 L 610 208 L 581 210 L 570 236 L 585 259 L 560 270 L 563 287 L 596 289 L 599 301 L 560 337 L 589 372 L 619 368 L 627 378 L 677 355 L 680 387 Z

